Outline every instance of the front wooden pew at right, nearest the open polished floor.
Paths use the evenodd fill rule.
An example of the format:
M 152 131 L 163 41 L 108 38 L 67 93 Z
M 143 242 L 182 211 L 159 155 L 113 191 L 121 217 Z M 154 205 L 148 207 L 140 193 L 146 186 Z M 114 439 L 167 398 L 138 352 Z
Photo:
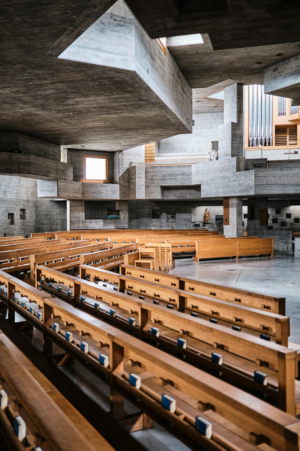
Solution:
M 175 276 L 173 274 L 166 275 L 161 272 L 149 271 L 144 268 L 135 268 L 133 265 L 121 265 L 120 272 L 126 276 L 138 279 L 143 278 L 143 280 L 149 282 L 159 282 L 161 285 L 175 286 L 184 291 L 190 291 L 198 295 L 222 299 L 224 301 L 232 302 L 233 304 L 240 304 L 246 307 L 257 308 L 259 310 L 270 311 L 285 316 L 286 300 L 279 296 L 263 295 L 254 291 L 197 281 L 188 277 Z M 93 276 L 96 276 L 96 273 L 93 273 Z

